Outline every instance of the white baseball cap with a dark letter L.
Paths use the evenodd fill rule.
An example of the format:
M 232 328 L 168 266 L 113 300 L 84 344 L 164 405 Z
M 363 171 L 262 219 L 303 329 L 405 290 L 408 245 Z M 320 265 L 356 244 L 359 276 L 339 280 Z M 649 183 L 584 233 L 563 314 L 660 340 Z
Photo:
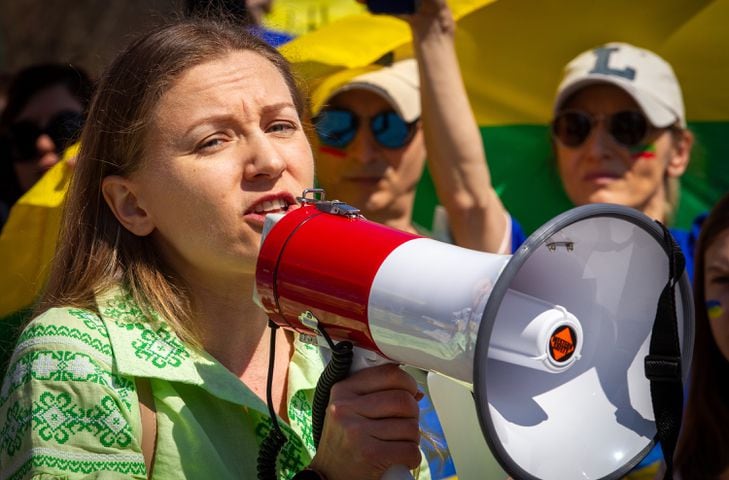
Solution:
M 583 52 L 567 64 L 554 113 L 572 94 L 599 83 L 615 85 L 633 97 L 654 127 L 676 122 L 686 127 L 681 86 L 671 65 L 649 50 L 619 42 Z

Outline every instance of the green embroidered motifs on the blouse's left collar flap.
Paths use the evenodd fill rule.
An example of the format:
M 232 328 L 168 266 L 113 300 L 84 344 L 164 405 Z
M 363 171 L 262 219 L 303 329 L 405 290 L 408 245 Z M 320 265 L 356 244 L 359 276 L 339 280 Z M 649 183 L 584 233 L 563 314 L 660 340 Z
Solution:
M 112 318 L 120 328 L 140 330 L 140 338 L 132 342 L 134 354 L 157 368 L 179 367 L 183 359 L 190 357 L 190 352 L 166 324 L 160 325 L 156 331 L 149 327 L 152 322 L 128 294 L 112 298 L 103 314 Z

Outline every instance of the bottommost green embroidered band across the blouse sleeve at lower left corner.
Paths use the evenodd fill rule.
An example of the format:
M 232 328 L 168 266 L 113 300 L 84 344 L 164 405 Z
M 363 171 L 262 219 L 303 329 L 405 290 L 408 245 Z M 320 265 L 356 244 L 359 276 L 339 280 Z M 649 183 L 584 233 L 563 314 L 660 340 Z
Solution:
M 74 458 L 77 457 L 77 458 Z M 24 478 L 33 467 L 54 468 L 63 472 L 90 474 L 100 471 L 118 472 L 124 475 L 146 476 L 147 470 L 141 455 L 69 455 L 48 448 L 33 450 L 33 457 L 25 462 L 8 480 Z M 65 478 L 65 477 L 64 477 Z

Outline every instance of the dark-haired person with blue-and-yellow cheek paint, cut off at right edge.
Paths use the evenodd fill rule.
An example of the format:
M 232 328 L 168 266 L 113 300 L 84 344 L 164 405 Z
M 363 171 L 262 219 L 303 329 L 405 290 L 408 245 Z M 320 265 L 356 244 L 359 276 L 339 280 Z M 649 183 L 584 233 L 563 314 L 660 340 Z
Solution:
M 722 480 L 729 478 L 729 194 L 701 227 L 694 275 L 694 355 L 674 465 L 683 480 Z

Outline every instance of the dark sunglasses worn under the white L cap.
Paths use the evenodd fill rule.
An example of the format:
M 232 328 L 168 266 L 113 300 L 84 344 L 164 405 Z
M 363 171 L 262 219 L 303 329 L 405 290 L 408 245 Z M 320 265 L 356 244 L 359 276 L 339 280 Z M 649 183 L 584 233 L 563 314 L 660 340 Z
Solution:
M 552 135 L 567 147 L 582 145 L 600 119 L 610 136 L 620 145 L 635 148 L 645 140 L 649 130 L 648 119 L 637 110 L 625 110 L 612 115 L 591 115 L 579 110 L 565 110 L 552 121 Z

